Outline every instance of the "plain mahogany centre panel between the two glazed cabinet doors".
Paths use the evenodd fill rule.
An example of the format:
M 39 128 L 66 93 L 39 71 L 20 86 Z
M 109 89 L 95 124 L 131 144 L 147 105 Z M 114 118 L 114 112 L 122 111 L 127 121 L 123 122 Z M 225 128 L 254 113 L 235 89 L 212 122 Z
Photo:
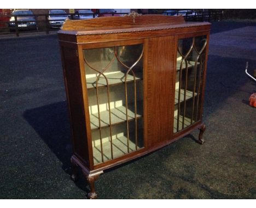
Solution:
M 148 39 L 147 144 L 171 139 L 174 36 Z

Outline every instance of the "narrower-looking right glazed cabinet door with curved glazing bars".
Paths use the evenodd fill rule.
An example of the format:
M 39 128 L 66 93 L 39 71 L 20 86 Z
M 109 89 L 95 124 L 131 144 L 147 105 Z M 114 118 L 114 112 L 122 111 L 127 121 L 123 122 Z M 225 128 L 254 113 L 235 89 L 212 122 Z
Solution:
M 201 120 L 207 35 L 177 40 L 173 133 Z

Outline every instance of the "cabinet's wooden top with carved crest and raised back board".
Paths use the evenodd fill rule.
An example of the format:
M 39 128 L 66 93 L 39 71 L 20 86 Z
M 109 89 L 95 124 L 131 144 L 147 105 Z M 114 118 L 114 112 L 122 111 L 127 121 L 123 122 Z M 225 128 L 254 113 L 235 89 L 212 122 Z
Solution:
M 208 22 L 185 22 L 183 16 L 138 16 L 137 13 L 132 13 L 127 16 L 98 17 L 87 20 L 67 19 L 58 34 L 59 39 L 63 41 L 104 42 L 181 34 L 186 33 L 186 30 L 191 33 L 193 28 L 195 32 L 206 31 L 210 30 L 210 25 Z M 133 33 L 132 37 L 130 33 Z M 117 36 L 117 34 L 120 35 Z M 102 38 L 102 35 L 105 36 Z M 104 38 L 107 39 L 104 40 Z

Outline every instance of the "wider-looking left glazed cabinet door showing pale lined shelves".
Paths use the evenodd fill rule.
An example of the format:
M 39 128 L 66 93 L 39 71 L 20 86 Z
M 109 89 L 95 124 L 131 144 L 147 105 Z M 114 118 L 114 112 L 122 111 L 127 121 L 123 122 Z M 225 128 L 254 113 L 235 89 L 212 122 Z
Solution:
M 94 166 L 144 147 L 143 41 L 83 49 Z

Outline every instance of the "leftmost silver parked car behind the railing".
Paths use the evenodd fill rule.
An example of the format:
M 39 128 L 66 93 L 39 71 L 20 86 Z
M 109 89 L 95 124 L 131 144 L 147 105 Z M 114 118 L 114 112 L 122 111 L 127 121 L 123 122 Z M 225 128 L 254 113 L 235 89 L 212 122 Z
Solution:
M 37 29 L 36 17 L 32 11 L 28 9 L 17 9 L 13 11 L 9 20 L 9 28 L 11 31 L 15 30 L 15 16 L 17 17 L 19 30 Z

